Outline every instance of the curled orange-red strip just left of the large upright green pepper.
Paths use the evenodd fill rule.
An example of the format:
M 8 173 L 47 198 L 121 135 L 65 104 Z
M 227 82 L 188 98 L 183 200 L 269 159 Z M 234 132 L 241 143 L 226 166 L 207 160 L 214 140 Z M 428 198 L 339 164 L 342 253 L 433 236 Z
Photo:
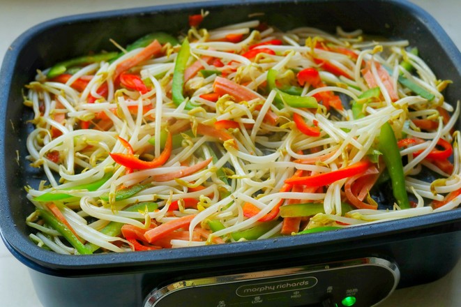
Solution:
M 372 166 L 364 174 L 356 174 L 347 179 L 345 184 L 347 200 L 357 209 L 377 209 L 376 206 L 363 202 L 363 198 L 365 198 L 378 178 L 379 172 L 376 170 L 375 166 Z M 358 188 L 356 188 L 356 186 Z M 363 190 L 365 190 L 366 193 L 363 193 Z

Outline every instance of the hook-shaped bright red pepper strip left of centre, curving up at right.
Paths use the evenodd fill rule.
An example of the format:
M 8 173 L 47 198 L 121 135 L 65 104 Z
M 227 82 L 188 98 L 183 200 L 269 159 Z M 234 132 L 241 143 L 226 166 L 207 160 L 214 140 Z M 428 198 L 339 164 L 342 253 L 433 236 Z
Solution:
M 160 153 L 160 156 L 158 156 L 157 158 L 154 158 L 151 161 L 141 160 L 133 154 L 123 154 L 123 153 L 109 153 L 109 154 L 116 163 L 123 165 L 124 167 L 133 168 L 135 170 L 146 170 L 149 168 L 154 168 L 154 167 L 158 167 L 160 165 L 165 164 L 167 160 L 169 159 L 169 156 L 171 156 L 172 154 L 172 147 L 173 147 L 172 133 L 168 132 L 167 141 L 165 142 L 165 148 L 163 149 L 162 153 Z

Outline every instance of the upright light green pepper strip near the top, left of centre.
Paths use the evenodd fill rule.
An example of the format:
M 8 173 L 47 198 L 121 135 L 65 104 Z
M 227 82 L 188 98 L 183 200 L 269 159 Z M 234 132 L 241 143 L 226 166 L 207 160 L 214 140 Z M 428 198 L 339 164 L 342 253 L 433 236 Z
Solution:
M 178 56 L 176 57 L 176 63 L 174 64 L 173 82 L 172 82 L 172 98 L 175 105 L 181 105 L 186 98 L 183 96 L 184 87 L 184 71 L 186 71 L 186 65 L 190 57 L 190 45 L 186 38 L 181 45 Z M 192 110 L 195 106 L 188 101 L 186 103 L 186 110 Z

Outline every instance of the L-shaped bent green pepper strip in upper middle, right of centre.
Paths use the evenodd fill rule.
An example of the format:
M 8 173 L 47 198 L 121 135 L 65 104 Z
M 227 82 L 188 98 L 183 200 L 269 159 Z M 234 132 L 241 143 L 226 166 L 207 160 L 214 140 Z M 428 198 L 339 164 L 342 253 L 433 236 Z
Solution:
M 274 98 L 275 107 L 282 109 L 283 103 L 286 103 L 290 107 L 318 107 L 317 99 L 314 97 L 294 96 L 278 89 L 275 85 L 275 77 L 277 77 L 277 74 L 278 71 L 275 69 L 269 69 L 267 72 L 267 87 L 269 91 L 275 90 L 277 92 Z

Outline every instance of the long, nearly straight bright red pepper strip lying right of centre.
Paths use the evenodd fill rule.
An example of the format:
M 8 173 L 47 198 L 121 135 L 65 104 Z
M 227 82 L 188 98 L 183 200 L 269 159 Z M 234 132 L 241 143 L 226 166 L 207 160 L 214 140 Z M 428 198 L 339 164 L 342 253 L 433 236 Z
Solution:
M 299 178 L 290 178 L 285 180 L 285 184 L 303 184 L 305 186 L 326 186 L 333 184 L 333 182 L 345 179 L 347 177 L 355 176 L 356 174 L 362 174 L 365 170 L 370 167 L 371 163 L 368 160 L 362 160 L 352 165 L 349 165 L 339 170 L 332 172 L 315 174 L 313 176 L 305 176 Z

